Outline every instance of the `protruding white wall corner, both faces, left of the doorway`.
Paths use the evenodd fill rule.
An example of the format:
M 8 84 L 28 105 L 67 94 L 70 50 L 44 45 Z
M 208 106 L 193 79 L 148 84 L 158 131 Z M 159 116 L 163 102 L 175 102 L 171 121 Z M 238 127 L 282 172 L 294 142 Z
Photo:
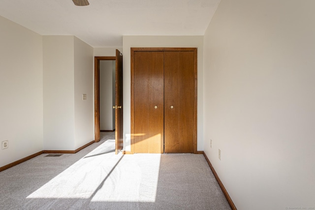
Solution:
M 76 150 L 94 140 L 93 54 L 75 36 L 43 36 L 44 150 Z

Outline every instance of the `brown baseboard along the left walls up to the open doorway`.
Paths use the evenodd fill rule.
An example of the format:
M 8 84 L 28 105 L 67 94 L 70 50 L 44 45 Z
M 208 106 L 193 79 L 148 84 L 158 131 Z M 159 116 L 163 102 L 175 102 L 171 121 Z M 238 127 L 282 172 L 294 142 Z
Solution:
M 11 168 L 13 166 L 16 166 L 16 165 L 18 165 L 20 163 L 23 163 L 23 162 L 25 162 L 27 160 L 30 160 L 33 157 L 36 157 L 36 156 L 38 156 L 40 154 L 43 154 L 43 153 L 53 153 L 53 154 L 55 154 L 55 153 L 59 153 L 59 154 L 60 153 L 63 153 L 63 154 L 71 153 L 71 154 L 74 154 L 74 153 L 77 153 L 78 151 L 83 150 L 84 148 L 92 145 L 93 143 L 94 143 L 94 141 L 89 142 L 88 144 L 86 144 L 86 145 L 84 145 L 84 146 L 82 146 L 82 147 L 80 147 L 80 148 L 78 148 L 76 150 L 42 150 L 42 151 L 36 152 L 35 154 L 32 154 L 30 156 L 27 156 L 27 157 L 24 157 L 24 158 L 22 158 L 20 160 L 17 160 L 17 161 L 15 161 L 13 163 L 9 163 L 9 164 L 7 164 L 5 166 L 0 167 L 0 172 L 6 170 L 8 168 Z

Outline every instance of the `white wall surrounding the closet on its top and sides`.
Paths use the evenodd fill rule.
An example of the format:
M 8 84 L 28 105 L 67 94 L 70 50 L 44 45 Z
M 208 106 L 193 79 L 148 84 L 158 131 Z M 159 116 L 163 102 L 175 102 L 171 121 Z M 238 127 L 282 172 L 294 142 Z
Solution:
M 124 150 L 130 151 L 130 48 L 131 47 L 197 47 L 198 101 L 197 150 L 203 150 L 203 36 L 123 36 L 124 54 Z

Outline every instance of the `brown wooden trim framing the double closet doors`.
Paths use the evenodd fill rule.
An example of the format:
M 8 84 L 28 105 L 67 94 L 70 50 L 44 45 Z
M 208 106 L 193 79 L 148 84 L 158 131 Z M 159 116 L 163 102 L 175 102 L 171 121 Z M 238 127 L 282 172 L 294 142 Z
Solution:
M 194 52 L 194 111 L 193 111 L 193 129 L 194 129 L 194 139 L 193 139 L 193 152 L 196 154 L 197 151 L 197 48 L 172 48 L 172 47 L 158 47 L 158 48 L 143 48 L 143 47 L 133 47 L 130 48 L 130 76 L 131 76 L 131 87 L 130 87 L 130 153 L 134 153 L 134 52 L 167 52 L 167 51 L 191 51 Z

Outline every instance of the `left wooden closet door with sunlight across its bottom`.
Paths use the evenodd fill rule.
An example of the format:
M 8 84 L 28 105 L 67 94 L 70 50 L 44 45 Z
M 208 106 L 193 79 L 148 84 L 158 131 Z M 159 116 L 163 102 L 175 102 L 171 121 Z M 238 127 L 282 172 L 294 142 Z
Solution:
M 164 53 L 134 52 L 134 152 L 163 153 Z

